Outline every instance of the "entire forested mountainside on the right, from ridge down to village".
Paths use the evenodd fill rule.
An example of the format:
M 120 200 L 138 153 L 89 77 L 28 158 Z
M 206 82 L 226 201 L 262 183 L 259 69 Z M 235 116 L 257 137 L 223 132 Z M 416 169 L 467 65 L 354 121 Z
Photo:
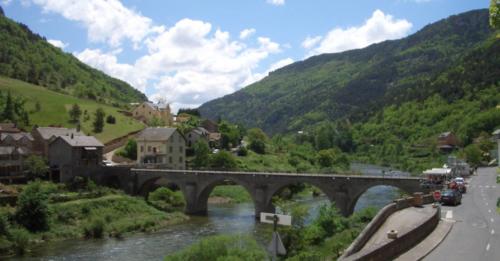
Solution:
M 291 64 L 199 110 L 414 172 L 445 161 L 437 137 L 451 131 L 465 148 L 455 153 L 480 164 L 500 127 L 498 68 L 488 11 L 470 11 L 401 40 Z

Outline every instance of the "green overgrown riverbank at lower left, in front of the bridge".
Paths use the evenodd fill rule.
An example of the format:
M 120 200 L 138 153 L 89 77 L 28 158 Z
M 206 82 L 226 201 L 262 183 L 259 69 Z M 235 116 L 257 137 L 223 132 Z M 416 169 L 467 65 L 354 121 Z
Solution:
M 28 186 L 34 185 L 16 189 L 25 191 Z M 40 182 L 37 186 L 38 194 L 30 198 L 29 204 L 36 207 L 37 197 L 42 198 L 42 205 L 46 203 L 46 216 L 42 217 L 46 218 L 46 228 L 34 230 L 22 222 L 23 203 L 19 200 L 16 207 L 0 207 L 0 256 L 24 254 L 36 245 L 51 241 L 122 238 L 136 232 L 154 232 L 188 219 L 179 211 L 163 212 L 142 198 L 92 184 L 80 188 L 79 192 L 49 182 Z

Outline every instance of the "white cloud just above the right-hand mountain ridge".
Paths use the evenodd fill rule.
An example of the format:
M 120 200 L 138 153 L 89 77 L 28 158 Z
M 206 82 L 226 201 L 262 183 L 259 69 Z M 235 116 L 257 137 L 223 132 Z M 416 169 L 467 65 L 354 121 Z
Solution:
M 346 29 L 334 28 L 322 38 L 321 42 L 317 41 L 312 44 L 313 41 L 308 37 L 304 40 L 303 46 L 307 45 L 304 47 L 310 49 L 309 56 L 342 52 L 363 48 L 385 40 L 401 38 L 408 34 L 411 27 L 412 24 L 407 20 L 394 19 L 391 15 L 376 10 L 362 26 Z

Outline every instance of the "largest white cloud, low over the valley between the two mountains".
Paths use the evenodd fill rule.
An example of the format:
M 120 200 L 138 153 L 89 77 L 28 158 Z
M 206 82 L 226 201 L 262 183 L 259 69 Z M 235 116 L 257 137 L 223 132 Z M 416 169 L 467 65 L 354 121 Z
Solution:
M 207 22 L 182 19 L 161 33 L 148 36 L 147 54 L 132 64 L 120 63 L 115 52 L 85 49 L 81 61 L 127 81 L 151 99 L 165 98 L 175 111 L 198 106 L 232 93 L 255 80 L 259 63 L 281 51 L 278 43 L 258 37 L 255 47 L 231 40 L 228 32 L 213 31 Z

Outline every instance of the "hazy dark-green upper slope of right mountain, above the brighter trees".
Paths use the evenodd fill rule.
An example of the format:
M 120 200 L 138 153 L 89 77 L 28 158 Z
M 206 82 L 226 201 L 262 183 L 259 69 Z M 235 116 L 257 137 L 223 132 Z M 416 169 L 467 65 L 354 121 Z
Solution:
M 440 83 L 440 75 L 452 73 L 492 35 L 486 9 L 451 16 L 401 40 L 291 64 L 203 104 L 200 112 L 278 133 L 326 120 L 366 120 L 384 106 L 423 101 L 435 93 L 451 102 L 464 91 Z

